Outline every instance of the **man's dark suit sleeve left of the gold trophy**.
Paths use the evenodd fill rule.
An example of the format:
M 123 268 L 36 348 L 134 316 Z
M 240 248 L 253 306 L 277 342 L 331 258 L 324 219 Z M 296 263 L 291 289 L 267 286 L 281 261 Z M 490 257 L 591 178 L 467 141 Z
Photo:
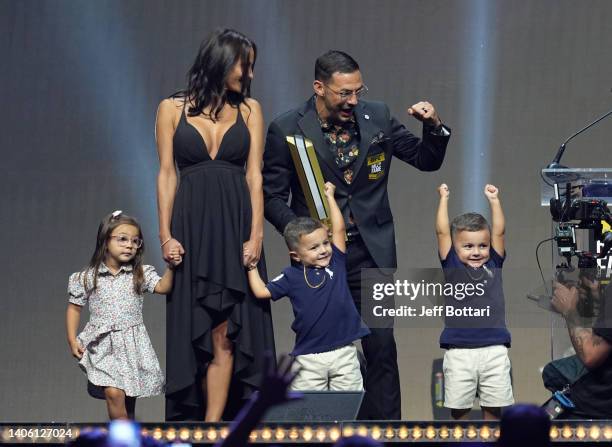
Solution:
M 289 192 L 293 176 L 293 161 L 285 135 L 276 124 L 270 124 L 264 152 L 264 213 L 279 233 L 296 218 L 289 205 Z

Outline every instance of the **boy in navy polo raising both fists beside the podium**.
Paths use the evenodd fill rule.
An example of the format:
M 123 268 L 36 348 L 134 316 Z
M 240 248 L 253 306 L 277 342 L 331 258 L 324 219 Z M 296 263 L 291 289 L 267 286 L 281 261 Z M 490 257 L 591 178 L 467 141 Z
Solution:
M 514 403 L 501 275 L 505 219 L 499 191 L 493 185 L 484 189 L 491 227 L 477 213 L 462 214 L 449 224 L 448 187 L 442 184 L 438 192 L 438 253 L 446 282 L 455 287 L 454 296 L 446 297 L 440 335 L 440 347 L 446 349 L 444 406 L 453 418 L 467 419 L 478 393 L 483 418 L 499 419 L 501 407 Z M 464 293 L 467 290 L 472 293 Z

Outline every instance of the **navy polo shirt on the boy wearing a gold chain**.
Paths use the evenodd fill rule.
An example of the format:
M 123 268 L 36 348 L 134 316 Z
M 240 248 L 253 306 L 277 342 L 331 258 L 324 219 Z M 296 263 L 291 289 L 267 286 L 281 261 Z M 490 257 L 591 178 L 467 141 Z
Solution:
M 296 264 L 270 281 L 273 300 L 289 297 L 295 320 L 291 355 L 314 354 L 340 348 L 370 333 L 355 308 L 346 277 L 346 254 L 332 245 L 327 267 Z

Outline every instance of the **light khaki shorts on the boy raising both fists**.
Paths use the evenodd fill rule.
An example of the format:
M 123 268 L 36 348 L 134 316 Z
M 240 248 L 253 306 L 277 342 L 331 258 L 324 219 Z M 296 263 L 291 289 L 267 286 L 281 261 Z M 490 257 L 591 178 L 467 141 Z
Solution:
M 506 407 L 514 403 L 510 358 L 503 345 L 453 348 L 444 354 L 444 406 L 472 408 L 476 393 L 481 407 Z

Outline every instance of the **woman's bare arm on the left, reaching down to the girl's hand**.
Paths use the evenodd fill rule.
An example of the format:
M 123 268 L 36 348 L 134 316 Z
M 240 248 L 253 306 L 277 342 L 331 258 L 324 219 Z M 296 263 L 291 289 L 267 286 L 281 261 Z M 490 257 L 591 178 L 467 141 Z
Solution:
M 159 242 L 162 245 L 162 255 L 166 261 L 171 261 L 170 252 L 178 249 L 182 255 L 183 247 L 179 241 L 172 237 L 170 221 L 172 207 L 178 184 L 176 168 L 174 166 L 174 153 L 172 137 L 178 123 L 177 116 L 180 108 L 173 99 L 164 99 L 157 109 L 155 121 L 155 140 L 157 141 L 157 154 L 159 156 L 159 174 L 157 175 L 157 212 L 159 219 Z

